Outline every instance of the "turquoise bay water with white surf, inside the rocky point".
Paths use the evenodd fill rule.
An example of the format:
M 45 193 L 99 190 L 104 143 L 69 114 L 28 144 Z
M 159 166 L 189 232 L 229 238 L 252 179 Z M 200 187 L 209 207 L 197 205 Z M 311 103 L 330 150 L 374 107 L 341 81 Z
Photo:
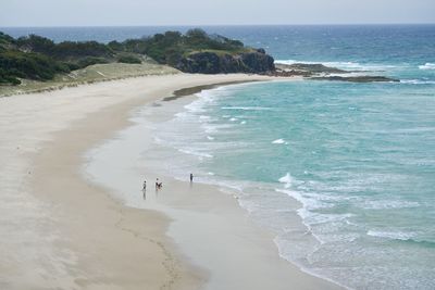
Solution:
M 283 257 L 357 289 L 433 289 L 434 88 L 232 86 L 200 93 L 157 135 L 191 156 L 179 157 L 181 175 L 189 163 L 237 190 Z

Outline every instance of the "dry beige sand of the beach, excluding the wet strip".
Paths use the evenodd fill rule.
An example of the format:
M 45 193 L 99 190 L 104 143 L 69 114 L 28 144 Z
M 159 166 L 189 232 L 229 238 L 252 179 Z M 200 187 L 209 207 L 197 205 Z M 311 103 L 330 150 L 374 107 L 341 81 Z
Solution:
M 156 211 L 126 207 L 107 190 L 86 182 L 79 174 L 83 152 L 128 127 L 133 109 L 176 89 L 253 78 L 260 79 L 149 76 L 1 100 L 5 103 L 0 111 L 5 140 L 0 151 L 5 161 L 1 178 L 5 197 L 14 197 L 15 203 L 2 200 L 0 204 L 7 216 L 0 227 L 7 235 L 13 232 L 9 241 L 1 241 L 7 255 L 0 260 L 0 286 L 202 286 L 210 273 L 190 263 L 178 241 L 165 234 L 174 222 Z M 13 130 L 11 123 L 16 125 Z M 21 211 L 23 204 L 29 210 Z M 11 222 L 17 226 L 13 230 L 8 227 Z

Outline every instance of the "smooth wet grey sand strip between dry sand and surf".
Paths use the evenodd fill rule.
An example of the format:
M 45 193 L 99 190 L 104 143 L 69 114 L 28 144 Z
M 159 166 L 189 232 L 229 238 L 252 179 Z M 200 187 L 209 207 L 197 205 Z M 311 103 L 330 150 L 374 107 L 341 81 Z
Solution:
M 341 289 L 341 286 L 334 281 L 306 272 L 283 259 L 274 242 L 274 234 L 256 224 L 240 206 L 236 196 L 222 192 L 217 185 L 189 184 L 170 176 L 167 172 L 162 174 L 161 171 L 156 171 L 156 161 L 150 162 L 147 159 L 153 153 L 140 156 L 140 160 L 136 161 L 142 152 L 154 152 L 156 147 L 161 147 L 149 140 L 152 138 L 138 137 L 152 136 L 149 128 L 153 126 L 153 121 L 150 119 L 172 118 L 184 105 L 198 98 L 191 96 L 192 93 L 235 84 L 239 83 L 194 87 L 186 90 L 188 97 L 184 100 L 177 97 L 165 103 L 167 99 L 164 98 L 158 109 L 145 109 L 150 111 L 151 115 L 156 110 L 160 110 L 158 116 L 149 116 L 147 113 L 132 116 L 132 126 L 87 153 L 89 162 L 84 171 L 88 180 L 104 186 L 128 206 L 157 210 L 170 216 L 173 220 L 167 232 L 170 237 L 178 243 L 182 252 L 187 254 L 194 265 L 210 273 L 206 289 L 287 289 L 289 286 L 295 289 Z M 165 109 L 171 105 L 175 108 Z M 147 118 L 145 124 L 138 121 L 144 117 Z M 130 149 L 128 152 L 122 150 L 127 147 Z M 104 166 L 104 161 L 110 159 L 114 159 L 116 169 Z M 113 182 L 113 176 L 119 180 Z M 144 200 L 138 196 L 139 180 L 142 176 L 147 178 L 148 188 L 151 187 Z M 152 180 L 156 178 L 163 181 L 163 189 L 154 194 Z M 132 197 L 133 192 L 137 196 Z M 210 241 L 217 245 L 208 244 Z M 229 245 L 224 245 L 225 243 Z M 208 244 L 207 248 L 203 248 L 203 244 Z M 237 252 L 240 249 L 246 253 L 240 255 Z M 220 253 L 226 253 L 227 261 L 220 261 Z M 237 276 L 232 277 L 232 272 Z M 264 278 L 264 273 L 270 277 Z

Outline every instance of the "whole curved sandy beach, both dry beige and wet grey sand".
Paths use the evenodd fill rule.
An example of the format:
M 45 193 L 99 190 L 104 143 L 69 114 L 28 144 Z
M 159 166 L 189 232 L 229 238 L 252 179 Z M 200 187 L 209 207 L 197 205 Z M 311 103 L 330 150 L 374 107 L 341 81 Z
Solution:
M 151 138 L 119 136 L 139 106 L 164 117 L 157 102 L 175 90 L 269 79 L 178 74 L 1 98 L 0 288 L 338 288 L 282 260 L 273 235 L 216 187 L 159 176 L 161 194 L 150 182 L 144 200 L 142 176 L 158 176 L 151 162 L 129 161 Z M 84 174 L 89 157 L 98 182 Z M 130 192 L 137 202 L 124 204 Z

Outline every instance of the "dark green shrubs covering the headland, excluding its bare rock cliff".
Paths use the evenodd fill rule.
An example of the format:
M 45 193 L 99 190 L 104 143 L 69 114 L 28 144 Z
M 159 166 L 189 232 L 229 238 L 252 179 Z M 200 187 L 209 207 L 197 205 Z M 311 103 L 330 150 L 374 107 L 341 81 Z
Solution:
M 213 50 L 214 53 L 238 53 L 244 43 L 223 36 L 208 35 L 202 29 L 156 34 L 152 37 L 127 39 L 108 45 L 97 41 L 54 41 L 37 36 L 13 37 L 0 31 L 0 84 L 20 84 L 18 78 L 52 79 L 58 73 L 99 63 L 114 61 L 141 63 L 140 58 L 128 53 L 147 54 L 158 63 L 176 66 L 191 52 Z M 121 55 L 120 55 L 121 54 Z

